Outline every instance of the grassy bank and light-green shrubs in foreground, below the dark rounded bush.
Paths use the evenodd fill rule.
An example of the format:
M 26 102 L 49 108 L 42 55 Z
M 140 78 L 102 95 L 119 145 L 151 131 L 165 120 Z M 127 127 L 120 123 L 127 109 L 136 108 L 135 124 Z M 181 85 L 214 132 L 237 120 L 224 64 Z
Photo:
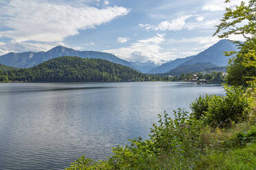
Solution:
M 228 98 L 231 89 L 227 89 Z M 234 103 L 241 99 L 231 98 Z M 225 105 L 231 101 L 223 102 Z M 244 106 L 244 109 L 250 107 Z M 130 140 L 130 145 L 114 148 L 113 155 L 105 161 L 96 162 L 82 156 L 67 170 L 255 169 L 256 118 L 250 113 L 243 118 L 244 122 L 223 124 L 220 129 L 206 125 L 202 119 L 195 119 L 181 109 L 173 111 L 173 117 L 164 112 L 158 114 L 159 121 L 153 124 L 148 140 Z

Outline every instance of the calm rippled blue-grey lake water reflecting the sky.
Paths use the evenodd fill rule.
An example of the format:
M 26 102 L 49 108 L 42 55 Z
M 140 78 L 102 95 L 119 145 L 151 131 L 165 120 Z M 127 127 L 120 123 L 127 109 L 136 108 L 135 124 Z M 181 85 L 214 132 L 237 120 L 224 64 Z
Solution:
M 220 85 L 176 82 L 0 84 L 0 169 L 64 169 L 105 159 L 127 138 L 148 138 L 157 114 Z

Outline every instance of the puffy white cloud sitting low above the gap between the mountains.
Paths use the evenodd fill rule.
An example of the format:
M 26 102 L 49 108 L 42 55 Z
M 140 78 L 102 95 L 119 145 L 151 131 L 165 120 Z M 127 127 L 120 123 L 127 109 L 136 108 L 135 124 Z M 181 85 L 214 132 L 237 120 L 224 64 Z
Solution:
M 156 64 L 161 64 L 162 60 L 167 61 L 175 58 L 172 51 L 162 51 L 160 44 L 164 40 L 164 34 L 156 34 L 152 38 L 131 43 L 129 47 L 109 49 L 105 52 L 114 53 L 114 55 L 129 61 L 147 62 L 151 60 Z

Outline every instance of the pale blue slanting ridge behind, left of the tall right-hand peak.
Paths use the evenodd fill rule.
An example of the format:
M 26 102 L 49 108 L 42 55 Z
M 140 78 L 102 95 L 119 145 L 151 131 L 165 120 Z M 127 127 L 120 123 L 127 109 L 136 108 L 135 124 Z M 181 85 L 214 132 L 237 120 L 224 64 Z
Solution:
M 188 60 L 191 60 L 191 58 L 193 58 L 193 56 L 186 57 L 186 58 L 178 58 L 171 62 L 166 62 L 166 63 L 156 67 L 155 69 L 151 69 L 147 73 L 149 73 L 149 74 L 167 73 L 168 71 L 170 71 L 171 69 L 174 69 L 175 67 L 179 66 L 180 64 L 182 64 Z

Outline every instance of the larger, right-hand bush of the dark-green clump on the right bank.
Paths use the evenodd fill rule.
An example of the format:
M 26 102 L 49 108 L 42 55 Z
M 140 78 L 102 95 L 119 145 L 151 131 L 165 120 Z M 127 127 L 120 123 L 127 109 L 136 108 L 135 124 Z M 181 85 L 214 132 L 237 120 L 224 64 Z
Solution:
M 212 127 L 228 127 L 248 119 L 251 100 L 244 95 L 244 89 L 225 86 L 225 90 L 226 96 L 214 96 L 209 101 L 204 121 Z

